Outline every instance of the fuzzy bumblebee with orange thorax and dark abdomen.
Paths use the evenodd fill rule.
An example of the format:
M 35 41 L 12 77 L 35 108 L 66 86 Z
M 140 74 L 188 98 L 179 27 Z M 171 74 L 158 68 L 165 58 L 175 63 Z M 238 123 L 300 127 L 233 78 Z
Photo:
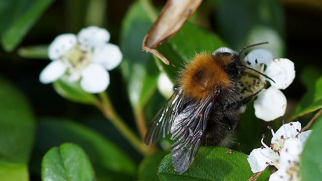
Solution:
M 265 42 L 267 43 L 267 42 Z M 258 94 L 241 96 L 240 75 L 251 70 L 237 52 L 196 54 L 179 73 L 174 94 L 157 112 L 144 137 L 145 144 L 155 144 L 171 133 L 174 169 L 184 173 L 201 145 L 222 145 L 233 135 L 240 120 L 240 107 Z M 269 78 L 270 79 L 270 78 Z

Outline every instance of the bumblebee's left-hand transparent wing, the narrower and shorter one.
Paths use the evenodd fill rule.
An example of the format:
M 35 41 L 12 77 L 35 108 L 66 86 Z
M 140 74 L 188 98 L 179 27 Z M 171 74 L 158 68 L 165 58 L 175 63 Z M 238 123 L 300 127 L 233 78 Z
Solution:
M 183 111 L 184 101 L 182 89 L 177 89 L 168 102 L 154 116 L 144 137 L 146 145 L 154 144 L 159 141 L 161 136 L 166 137 L 170 133 L 173 119 Z

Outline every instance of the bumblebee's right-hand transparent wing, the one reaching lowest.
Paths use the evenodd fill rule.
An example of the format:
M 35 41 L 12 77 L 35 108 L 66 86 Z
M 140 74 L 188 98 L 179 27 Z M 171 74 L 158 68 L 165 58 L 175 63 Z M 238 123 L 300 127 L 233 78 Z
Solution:
M 180 174 L 189 168 L 199 150 L 212 104 L 210 96 L 200 104 L 191 103 L 174 119 L 171 155 L 174 169 Z

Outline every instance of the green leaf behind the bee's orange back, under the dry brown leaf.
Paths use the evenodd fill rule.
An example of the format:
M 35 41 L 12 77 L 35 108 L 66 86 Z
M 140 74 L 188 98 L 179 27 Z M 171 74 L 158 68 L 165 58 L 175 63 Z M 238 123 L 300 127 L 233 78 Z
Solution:
M 157 48 L 175 67 L 160 61 L 159 64 L 173 79 L 177 77 L 178 70 L 183 68 L 196 53 L 213 52 L 222 46 L 225 44 L 217 35 L 188 22 L 169 42 Z

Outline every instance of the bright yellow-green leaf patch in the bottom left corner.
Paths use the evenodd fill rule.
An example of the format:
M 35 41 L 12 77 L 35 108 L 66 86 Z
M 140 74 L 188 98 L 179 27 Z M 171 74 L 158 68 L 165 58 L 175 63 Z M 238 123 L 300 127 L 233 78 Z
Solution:
M 27 164 L 0 163 L 0 177 L 2 181 L 28 181 Z

